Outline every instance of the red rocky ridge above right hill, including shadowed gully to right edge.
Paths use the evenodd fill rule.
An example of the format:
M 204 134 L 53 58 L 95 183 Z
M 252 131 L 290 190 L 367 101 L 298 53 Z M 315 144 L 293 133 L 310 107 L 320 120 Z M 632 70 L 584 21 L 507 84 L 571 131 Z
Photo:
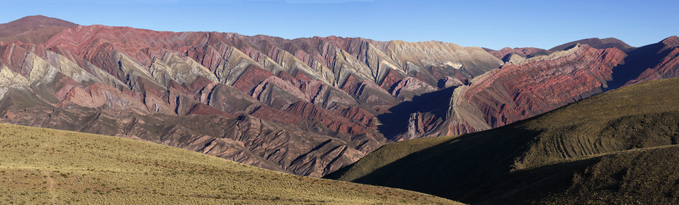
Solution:
M 414 113 L 427 119 L 414 129 L 401 129 L 405 136 L 445 136 L 484 131 L 530 118 L 582 98 L 648 80 L 679 77 L 676 36 L 628 53 L 611 45 L 576 43 L 565 51 L 524 59 L 510 53 L 505 64 L 457 87 L 440 109 Z M 589 42 L 583 40 L 582 42 Z M 597 41 L 595 41 L 597 42 Z M 489 51 L 492 52 L 492 51 Z M 443 107 L 439 100 L 437 105 Z M 378 116 L 380 118 L 380 116 Z M 417 123 L 415 123 L 417 124 Z M 388 128 L 385 130 L 395 130 Z

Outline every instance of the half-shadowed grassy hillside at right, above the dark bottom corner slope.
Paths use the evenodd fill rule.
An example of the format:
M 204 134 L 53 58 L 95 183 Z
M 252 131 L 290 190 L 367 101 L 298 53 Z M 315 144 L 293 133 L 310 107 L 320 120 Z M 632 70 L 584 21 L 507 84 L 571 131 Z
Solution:
M 326 178 L 464 199 L 518 170 L 676 144 L 678 87 L 679 78 L 651 81 L 490 131 L 392 143 Z

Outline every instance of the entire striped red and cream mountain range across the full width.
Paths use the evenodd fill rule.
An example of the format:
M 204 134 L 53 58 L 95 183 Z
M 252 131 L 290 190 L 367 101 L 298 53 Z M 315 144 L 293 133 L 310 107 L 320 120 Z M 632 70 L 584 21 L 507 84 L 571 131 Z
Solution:
M 0 25 L 0 122 L 150 141 L 320 177 L 405 139 L 486 131 L 678 76 L 679 38 L 492 51 L 447 42 L 283 39 Z

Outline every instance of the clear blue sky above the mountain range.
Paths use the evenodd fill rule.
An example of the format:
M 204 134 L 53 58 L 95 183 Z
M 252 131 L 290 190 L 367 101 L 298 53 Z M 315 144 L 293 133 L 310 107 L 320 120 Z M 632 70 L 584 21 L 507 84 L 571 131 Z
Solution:
M 23 0 L 0 22 L 42 14 L 80 25 L 222 31 L 283 38 L 363 37 L 549 49 L 582 38 L 643 46 L 679 35 L 679 1 Z

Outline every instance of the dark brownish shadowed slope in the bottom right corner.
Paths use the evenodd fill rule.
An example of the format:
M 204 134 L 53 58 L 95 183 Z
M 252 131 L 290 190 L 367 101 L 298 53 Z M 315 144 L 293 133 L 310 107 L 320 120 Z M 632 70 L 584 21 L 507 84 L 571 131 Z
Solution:
M 615 152 L 514 172 L 471 191 L 474 204 L 677 204 L 679 146 Z M 493 196 L 493 197 L 488 197 Z

